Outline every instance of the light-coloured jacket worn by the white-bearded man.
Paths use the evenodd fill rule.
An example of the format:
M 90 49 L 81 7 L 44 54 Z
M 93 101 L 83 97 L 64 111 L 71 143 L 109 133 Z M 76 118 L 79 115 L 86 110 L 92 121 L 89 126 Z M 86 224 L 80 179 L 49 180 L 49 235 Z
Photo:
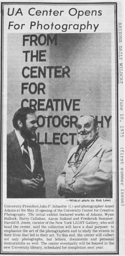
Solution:
M 71 149 L 64 170 L 57 179 L 58 191 L 60 184 L 66 183 L 72 184 L 76 197 L 112 197 L 111 143 L 99 137 L 85 153 L 83 161 L 76 171 L 75 166 L 68 164 L 68 160 L 77 149 L 78 146 Z

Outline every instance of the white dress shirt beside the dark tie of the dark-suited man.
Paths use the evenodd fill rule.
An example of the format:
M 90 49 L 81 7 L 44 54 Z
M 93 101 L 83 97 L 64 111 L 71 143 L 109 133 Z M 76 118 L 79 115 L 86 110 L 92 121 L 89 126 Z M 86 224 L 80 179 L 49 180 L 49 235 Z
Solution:
M 24 149 L 24 145 L 23 145 L 23 142 L 24 142 L 24 138 L 19 134 L 19 132 L 17 130 L 15 130 L 15 133 L 16 133 L 16 136 L 17 136 L 17 139 L 19 141 L 19 145 L 20 145 L 20 148 L 21 148 L 21 151 L 22 151 L 22 154 L 23 154 L 23 149 Z M 31 172 L 33 172 L 33 169 L 34 169 L 34 157 L 33 157 L 33 151 L 32 151 L 32 148 L 28 146 L 28 151 L 29 151 L 29 155 L 30 155 L 30 161 L 31 161 Z

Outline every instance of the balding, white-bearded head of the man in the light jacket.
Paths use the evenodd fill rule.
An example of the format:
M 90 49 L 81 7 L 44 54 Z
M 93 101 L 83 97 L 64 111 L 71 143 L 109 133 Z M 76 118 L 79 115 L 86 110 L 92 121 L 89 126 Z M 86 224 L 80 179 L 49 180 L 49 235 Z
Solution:
M 77 137 L 82 145 L 91 143 L 99 132 L 99 126 L 92 116 L 82 116 L 77 122 Z

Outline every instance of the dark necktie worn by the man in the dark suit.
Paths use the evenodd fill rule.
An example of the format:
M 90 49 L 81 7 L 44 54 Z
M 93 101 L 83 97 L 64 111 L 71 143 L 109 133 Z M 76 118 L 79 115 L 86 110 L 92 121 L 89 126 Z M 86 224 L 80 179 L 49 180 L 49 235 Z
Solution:
M 26 167 L 28 168 L 28 170 L 31 171 L 30 154 L 29 154 L 29 151 L 28 151 L 28 142 L 27 142 L 27 140 L 24 140 L 23 145 L 24 145 L 23 160 L 24 160 L 24 163 L 25 163 Z

